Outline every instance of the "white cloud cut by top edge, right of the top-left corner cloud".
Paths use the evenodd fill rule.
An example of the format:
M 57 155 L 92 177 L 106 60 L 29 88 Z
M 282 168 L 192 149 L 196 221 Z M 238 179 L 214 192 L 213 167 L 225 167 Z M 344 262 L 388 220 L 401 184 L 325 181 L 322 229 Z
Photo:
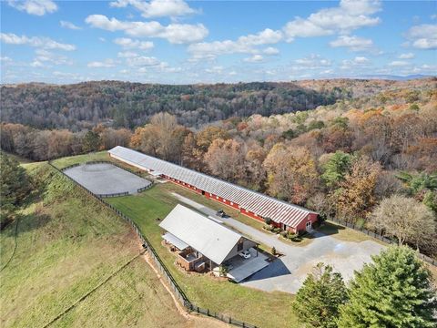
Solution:
M 196 10 L 189 7 L 183 0 L 117 0 L 109 5 L 113 7 L 126 7 L 132 5 L 141 12 L 141 15 L 146 18 L 162 17 L 162 16 L 181 16 L 195 14 Z

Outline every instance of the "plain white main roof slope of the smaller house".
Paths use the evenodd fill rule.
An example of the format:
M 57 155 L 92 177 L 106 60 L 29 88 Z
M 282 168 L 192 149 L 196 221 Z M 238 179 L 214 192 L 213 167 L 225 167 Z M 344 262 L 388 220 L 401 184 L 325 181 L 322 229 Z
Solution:
M 225 261 L 242 238 L 239 233 L 180 204 L 168 213 L 166 219 L 159 223 L 159 227 L 217 264 Z

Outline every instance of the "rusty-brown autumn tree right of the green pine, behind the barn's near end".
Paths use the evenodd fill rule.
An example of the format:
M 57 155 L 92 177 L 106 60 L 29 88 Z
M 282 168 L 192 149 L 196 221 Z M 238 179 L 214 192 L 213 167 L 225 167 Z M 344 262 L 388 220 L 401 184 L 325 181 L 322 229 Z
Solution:
M 363 220 L 375 204 L 375 187 L 381 172 L 379 163 L 360 157 L 354 159 L 351 172 L 330 193 L 336 203 L 337 217 L 355 223 Z

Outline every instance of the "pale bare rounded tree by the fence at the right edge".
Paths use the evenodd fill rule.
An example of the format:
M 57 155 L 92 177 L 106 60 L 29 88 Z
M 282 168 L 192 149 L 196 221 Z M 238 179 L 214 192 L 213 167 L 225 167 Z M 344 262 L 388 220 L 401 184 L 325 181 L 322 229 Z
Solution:
M 437 240 L 437 223 L 432 210 L 424 204 L 401 195 L 382 200 L 371 213 L 369 223 L 400 245 L 408 242 L 420 247 Z

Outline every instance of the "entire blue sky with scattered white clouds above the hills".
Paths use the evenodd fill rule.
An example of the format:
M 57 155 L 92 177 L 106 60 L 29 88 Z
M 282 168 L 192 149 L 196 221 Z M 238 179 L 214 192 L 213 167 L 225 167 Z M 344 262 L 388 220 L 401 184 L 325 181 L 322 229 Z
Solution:
M 437 74 L 435 1 L 1 2 L 2 83 Z

